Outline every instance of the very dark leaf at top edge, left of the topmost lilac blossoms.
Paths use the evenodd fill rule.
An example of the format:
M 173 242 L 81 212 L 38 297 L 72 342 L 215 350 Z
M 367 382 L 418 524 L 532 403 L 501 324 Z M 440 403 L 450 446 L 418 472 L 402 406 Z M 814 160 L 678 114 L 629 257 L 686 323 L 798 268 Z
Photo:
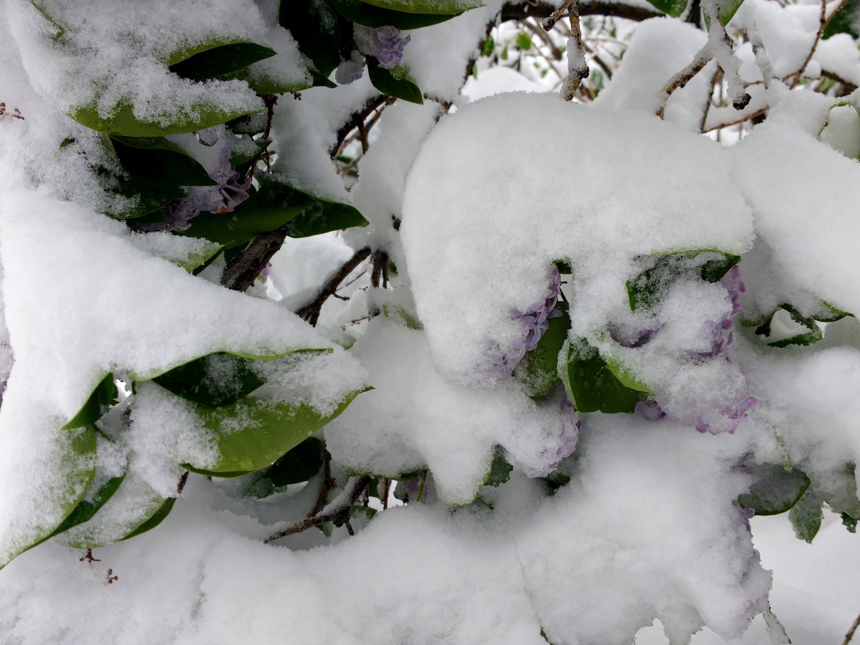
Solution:
M 327 79 L 341 64 L 341 31 L 351 37 L 352 26 L 335 12 L 329 2 L 281 0 L 278 22 L 296 39 L 299 51 L 310 58 L 316 68 L 317 79 Z

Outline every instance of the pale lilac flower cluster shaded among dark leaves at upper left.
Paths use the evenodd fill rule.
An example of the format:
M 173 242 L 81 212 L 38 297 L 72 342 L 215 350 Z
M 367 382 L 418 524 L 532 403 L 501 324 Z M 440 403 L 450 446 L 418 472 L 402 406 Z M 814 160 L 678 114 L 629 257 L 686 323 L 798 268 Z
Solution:
M 242 180 L 237 169 L 230 165 L 232 145 L 228 139 L 220 151 L 218 168 L 209 173 L 212 180 L 218 181 L 218 186 L 189 186 L 187 196 L 173 200 L 162 208 L 162 222 L 146 224 L 138 228 L 140 231 L 153 230 L 186 230 L 191 226 L 191 220 L 201 212 L 224 213 L 232 212 L 244 200 L 249 198 L 251 187 L 250 175 Z

